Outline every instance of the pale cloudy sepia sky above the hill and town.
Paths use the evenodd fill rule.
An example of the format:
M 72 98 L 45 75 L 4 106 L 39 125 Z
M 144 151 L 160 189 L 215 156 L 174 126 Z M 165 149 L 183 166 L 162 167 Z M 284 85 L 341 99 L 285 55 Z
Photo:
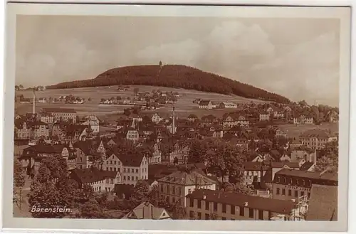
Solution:
M 127 65 L 189 65 L 309 104 L 338 106 L 335 18 L 17 16 L 16 85 Z

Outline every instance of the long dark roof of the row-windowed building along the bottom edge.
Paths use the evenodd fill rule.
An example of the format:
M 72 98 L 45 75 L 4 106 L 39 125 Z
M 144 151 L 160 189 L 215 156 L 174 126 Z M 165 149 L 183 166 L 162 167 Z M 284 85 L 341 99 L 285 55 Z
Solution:
M 250 196 L 242 193 L 214 191 L 209 189 L 198 189 L 193 191 L 187 195 L 187 198 L 240 207 L 244 207 L 245 203 L 247 203 L 247 208 L 256 208 L 260 211 L 271 211 L 281 214 L 290 214 L 290 212 L 292 212 L 293 208 L 295 207 L 295 203 L 292 201 L 263 198 L 260 196 Z

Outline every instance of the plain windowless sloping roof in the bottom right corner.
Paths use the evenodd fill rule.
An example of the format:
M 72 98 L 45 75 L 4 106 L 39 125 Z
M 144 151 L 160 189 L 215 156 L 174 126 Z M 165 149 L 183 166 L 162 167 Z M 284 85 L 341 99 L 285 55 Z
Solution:
M 337 186 L 312 185 L 305 220 L 337 221 Z

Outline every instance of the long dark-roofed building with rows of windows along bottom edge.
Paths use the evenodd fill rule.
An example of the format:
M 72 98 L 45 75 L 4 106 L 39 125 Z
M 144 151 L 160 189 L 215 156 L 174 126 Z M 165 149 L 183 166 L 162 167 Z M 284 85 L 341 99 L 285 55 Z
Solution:
M 242 193 L 199 189 L 187 195 L 187 213 L 198 220 L 293 220 L 295 203 Z

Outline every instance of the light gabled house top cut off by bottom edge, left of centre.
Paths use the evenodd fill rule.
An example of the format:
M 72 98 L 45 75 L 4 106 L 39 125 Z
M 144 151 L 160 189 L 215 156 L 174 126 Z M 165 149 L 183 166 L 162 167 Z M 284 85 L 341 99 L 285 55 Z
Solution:
M 124 219 L 152 219 L 170 220 L 172 219 L 164 208 L 153 206 L 149 201 L 144 201 L 136 206 L 132 211 L 123 217 Z

